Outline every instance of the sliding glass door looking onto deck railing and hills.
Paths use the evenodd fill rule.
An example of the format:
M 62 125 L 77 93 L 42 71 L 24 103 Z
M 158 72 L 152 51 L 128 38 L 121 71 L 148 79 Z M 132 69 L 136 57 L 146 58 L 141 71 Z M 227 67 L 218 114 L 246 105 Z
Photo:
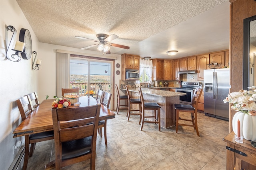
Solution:
M 79 87 L 80 95 L 96 97 L 100 84 L 103 91 L 111 93 L 111 69 L 112 61 L 71 57 L 70 88 Z

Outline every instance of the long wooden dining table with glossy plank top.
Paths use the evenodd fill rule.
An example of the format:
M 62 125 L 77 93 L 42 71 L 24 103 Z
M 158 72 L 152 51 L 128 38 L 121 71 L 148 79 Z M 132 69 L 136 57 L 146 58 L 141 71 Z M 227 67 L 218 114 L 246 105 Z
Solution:
M 54 99 L 44 100 L 36 109 L 13 131 L 13 137 L 31 135 L 53 130 L 52 123 L 52 102 Z M 99 102 L 92 96 L 81 96 L 78 98 L 81 103 L 79 107 L 94 106 Z M 71 105 L 70 107 L 74 107 Z M 67 107 L 66 109 L 69 109 Z M 115 118 L 115 113 L 101 104 L 99 120 Z

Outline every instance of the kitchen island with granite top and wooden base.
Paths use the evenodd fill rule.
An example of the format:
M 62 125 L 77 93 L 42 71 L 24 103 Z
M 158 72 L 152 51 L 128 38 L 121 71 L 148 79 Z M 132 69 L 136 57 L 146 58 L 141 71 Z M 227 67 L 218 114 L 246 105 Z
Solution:
M 133 98 L 138 98 L 138 88 L 128 88 L 128 90 L 131 92 Z M 161 127 L 166 129 L 175 125 L 174 104 L 178 104 L 180 101 L 180 96 L 184 96 L 186 93 L 155 90 L 151 88 L 141 88 L 141 90 L 144 102 L 156 102 L 159 104 L 159 106 L 161 106 Z M 154 111 L 152 110 L 145 110 L 145 116 L 152 115 L 153 113 Z M 153 118 L 150 121 L 153 121 Z

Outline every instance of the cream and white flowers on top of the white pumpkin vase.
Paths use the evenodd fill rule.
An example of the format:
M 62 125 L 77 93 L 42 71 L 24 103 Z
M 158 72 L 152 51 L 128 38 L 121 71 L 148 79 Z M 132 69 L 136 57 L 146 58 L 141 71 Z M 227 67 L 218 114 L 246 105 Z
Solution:
M 229 103 L 232 110 L 254 115 L 256 111 L 256 86 L 248 87 L 248 90 L 232 92 L 223 100 Z

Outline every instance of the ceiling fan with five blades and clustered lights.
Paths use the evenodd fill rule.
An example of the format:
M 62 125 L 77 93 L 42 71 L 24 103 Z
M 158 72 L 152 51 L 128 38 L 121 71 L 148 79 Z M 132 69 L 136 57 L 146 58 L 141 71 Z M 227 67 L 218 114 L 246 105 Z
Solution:
M 81 48 L 81 50 L 88 49 L 88 48 L 94 47 L 96 45 L 98 45 L 98 50 L 100 50 L 100 51 L 103 50 L 103 53 L 105 52 L 106 54 L 110 54 L 109 45 L 113 46 L 113 47 L 123 48 L 123 49 L 130 49 L 130 47 L 125 46 L 125 45 L 110 43 L 110 41 L 118 38 L 118 36 L 115 35 L 115 34 L 111 34 L 110 36 L 108 36 L 107 34 L 97 34 L 96 37 L 97 37 L 98 40 L 76 36 L 76 38 L 91 40 L 91 41 L 97 42 L 97 44 L 93 44 L 93 45 L 89 45 L 87 47 L 83 47 L 83 48 Z

